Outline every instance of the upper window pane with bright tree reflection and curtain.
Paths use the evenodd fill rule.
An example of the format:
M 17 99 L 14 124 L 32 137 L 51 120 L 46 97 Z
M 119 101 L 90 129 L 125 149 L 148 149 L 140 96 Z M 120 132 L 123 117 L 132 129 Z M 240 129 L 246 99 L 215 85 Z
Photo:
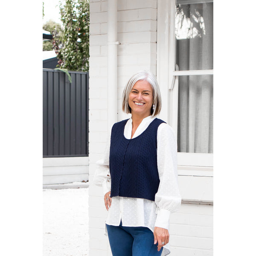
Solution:
M 190 2 L 177 4 L 176 63 L 179 70 L 213 69 L 213 3 Z

